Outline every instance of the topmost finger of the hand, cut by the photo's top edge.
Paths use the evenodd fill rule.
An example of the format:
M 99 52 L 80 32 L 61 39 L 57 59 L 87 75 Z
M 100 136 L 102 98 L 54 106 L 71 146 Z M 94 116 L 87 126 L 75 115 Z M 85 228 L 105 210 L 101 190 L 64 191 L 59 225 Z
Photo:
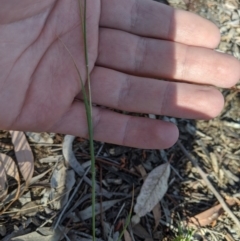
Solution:
M 220 41 L 219 30 L 208 20 L 150 0 L 103 0 L 100 25 L 209 48 Z

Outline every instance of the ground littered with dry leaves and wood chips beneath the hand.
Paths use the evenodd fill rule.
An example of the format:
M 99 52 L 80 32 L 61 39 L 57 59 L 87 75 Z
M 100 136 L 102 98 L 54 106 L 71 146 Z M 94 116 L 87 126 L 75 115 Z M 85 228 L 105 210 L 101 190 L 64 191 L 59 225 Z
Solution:
M 168 3 L 213 21 L 222 34 L 218 51 L 240 59 L 239 1 Z M 95 142 L 98 240 L 118 240 L 131 210 L 132 195 L 136 203 L 146 174 L 166 162 L 171 164 L 166 194 L 140 223 L 128 225 L 121 240 L 187 241 L 190 230 L 194 230 L 192 240 L 240 240 L 240 227 L 233 218 L 240 220 L 239 90 L 239 85 L 222 90 L 225 108 L 210 121 L 157 116 L 178 125 L 182 148 L 176 144 L 168 150 L 140 150 Z M 92 240 L 88 141 L 76 138 L 72 143 L 73 138 L 50 133 L 27 136 L 34 154 L 36 180 L 1 213 L 0 240 Z M 0 132 L 0 148 L 1 153 L 18 162 L 6 131 Z M 65 165 L 69 160 L 81 165 L 74 162 L 73 171 L 71 163 L 64 167 L 63 160 Z M 84 172 L 87 178 L 83 178 Z M 16 180 L 8 177 L 8 195 L 16 188 Z M 7 202 L 3 204 L 2 210 Z

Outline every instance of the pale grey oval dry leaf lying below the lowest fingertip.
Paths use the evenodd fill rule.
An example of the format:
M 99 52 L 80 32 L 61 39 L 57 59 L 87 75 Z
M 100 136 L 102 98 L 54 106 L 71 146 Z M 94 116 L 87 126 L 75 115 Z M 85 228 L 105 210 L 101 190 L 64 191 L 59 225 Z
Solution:
M 138 217 L 152 211 L 154 206 L 162 199 L 168 189 L 169 175 L 169 163 L 156 167 L 148 174 L 134 206 L 134 212 Z

